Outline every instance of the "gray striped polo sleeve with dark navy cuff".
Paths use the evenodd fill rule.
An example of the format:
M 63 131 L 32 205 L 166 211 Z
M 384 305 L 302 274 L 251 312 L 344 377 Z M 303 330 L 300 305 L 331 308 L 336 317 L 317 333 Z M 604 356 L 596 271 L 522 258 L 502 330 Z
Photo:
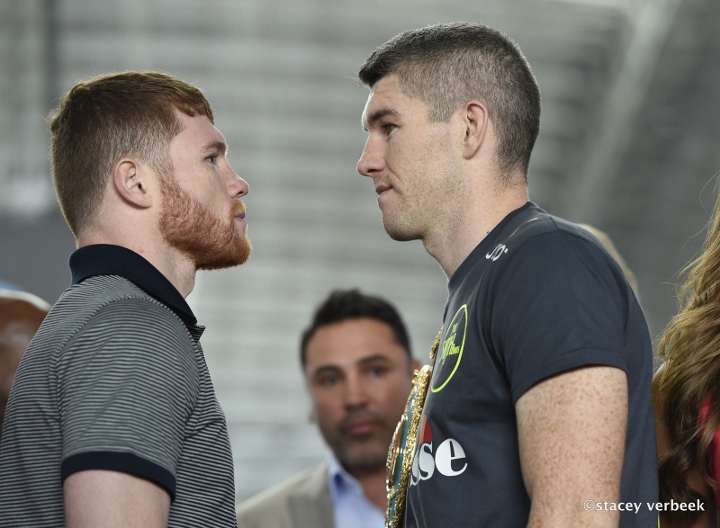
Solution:
M 105 469 L 146 478 L 175 495 L 185 425 L 199 375 L 191 337 L 147 299 L 102 307 L 56 358 L 61 475 Z

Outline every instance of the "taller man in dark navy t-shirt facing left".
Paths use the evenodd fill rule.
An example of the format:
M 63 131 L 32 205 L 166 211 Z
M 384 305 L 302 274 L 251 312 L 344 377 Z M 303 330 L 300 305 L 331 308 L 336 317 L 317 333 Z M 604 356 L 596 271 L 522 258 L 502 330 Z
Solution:
M 358 171 L 388 234 L 449 279 L 405 525 L 653 526 L 647 325 L 602 244 L 528 201 L 540 92 L 517 45 L 430 26 L 359 78 Z

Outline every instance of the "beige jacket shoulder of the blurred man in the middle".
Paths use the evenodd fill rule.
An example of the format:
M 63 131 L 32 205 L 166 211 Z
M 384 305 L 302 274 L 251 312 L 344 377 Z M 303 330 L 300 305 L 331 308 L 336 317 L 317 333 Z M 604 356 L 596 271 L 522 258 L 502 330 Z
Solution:
M 242 502 L 237 508 L 239 526 L 282 526 L 296 498 L 330 504 L 327 471 L 322 463 Z

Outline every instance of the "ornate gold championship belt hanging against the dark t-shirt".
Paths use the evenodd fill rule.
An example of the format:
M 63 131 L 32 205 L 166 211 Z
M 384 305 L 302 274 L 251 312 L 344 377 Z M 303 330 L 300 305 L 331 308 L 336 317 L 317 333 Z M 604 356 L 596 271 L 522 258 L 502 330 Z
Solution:
M 435 359 L 441 335 L 442 329 L 438 332 L 430 350 L 431 360 Z M 405 412 L 400 418 L 390 442 L 387 458 L 388 508 L 385 514 L 385 528 L 401 528 L 403 524 L 415 440 L 431 377 L 432 367 L 430 365 L 425 365 L 420 370 L 415 371 L 412 390 L 405 405 Z

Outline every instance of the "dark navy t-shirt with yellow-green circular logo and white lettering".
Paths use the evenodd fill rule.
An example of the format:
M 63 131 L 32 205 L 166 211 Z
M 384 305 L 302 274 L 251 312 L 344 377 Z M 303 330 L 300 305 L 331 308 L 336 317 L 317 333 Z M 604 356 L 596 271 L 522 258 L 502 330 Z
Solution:
M 473 250 L 448 287 L 406 526 L 526 526 L 530 498 L 515 403 L 544 378 L 587 365 L 627 374 L 621 501 L 657 502 L 650 336 L 606 248 L 584 229 L 528 203 Z M 624 528 L 655 523 L 657 513 L 645 504 L 638 513 L 621 514 Z

